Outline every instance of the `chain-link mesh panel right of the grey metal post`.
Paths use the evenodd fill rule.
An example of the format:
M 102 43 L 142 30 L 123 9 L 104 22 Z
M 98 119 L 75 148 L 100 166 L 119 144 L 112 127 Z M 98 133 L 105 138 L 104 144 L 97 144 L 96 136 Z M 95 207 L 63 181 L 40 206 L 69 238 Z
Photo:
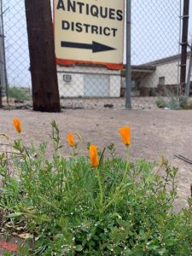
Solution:
M 181 1 L 132 0 L 131 15 L 132 108 L 177 104 Z

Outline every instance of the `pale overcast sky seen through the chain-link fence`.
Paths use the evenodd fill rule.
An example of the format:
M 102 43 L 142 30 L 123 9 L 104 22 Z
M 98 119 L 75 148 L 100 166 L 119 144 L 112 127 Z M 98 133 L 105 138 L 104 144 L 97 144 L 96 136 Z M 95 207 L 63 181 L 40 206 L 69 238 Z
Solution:
M 9 84 L 30 87 L 24 3 L 23 0 L 3 0 L 4 33 Z M 131 1 L 132 65 L 178 53 L 179 15 L 180 0 Z M 189 35 L 192 37 L 192 4 L 189 10 Z

